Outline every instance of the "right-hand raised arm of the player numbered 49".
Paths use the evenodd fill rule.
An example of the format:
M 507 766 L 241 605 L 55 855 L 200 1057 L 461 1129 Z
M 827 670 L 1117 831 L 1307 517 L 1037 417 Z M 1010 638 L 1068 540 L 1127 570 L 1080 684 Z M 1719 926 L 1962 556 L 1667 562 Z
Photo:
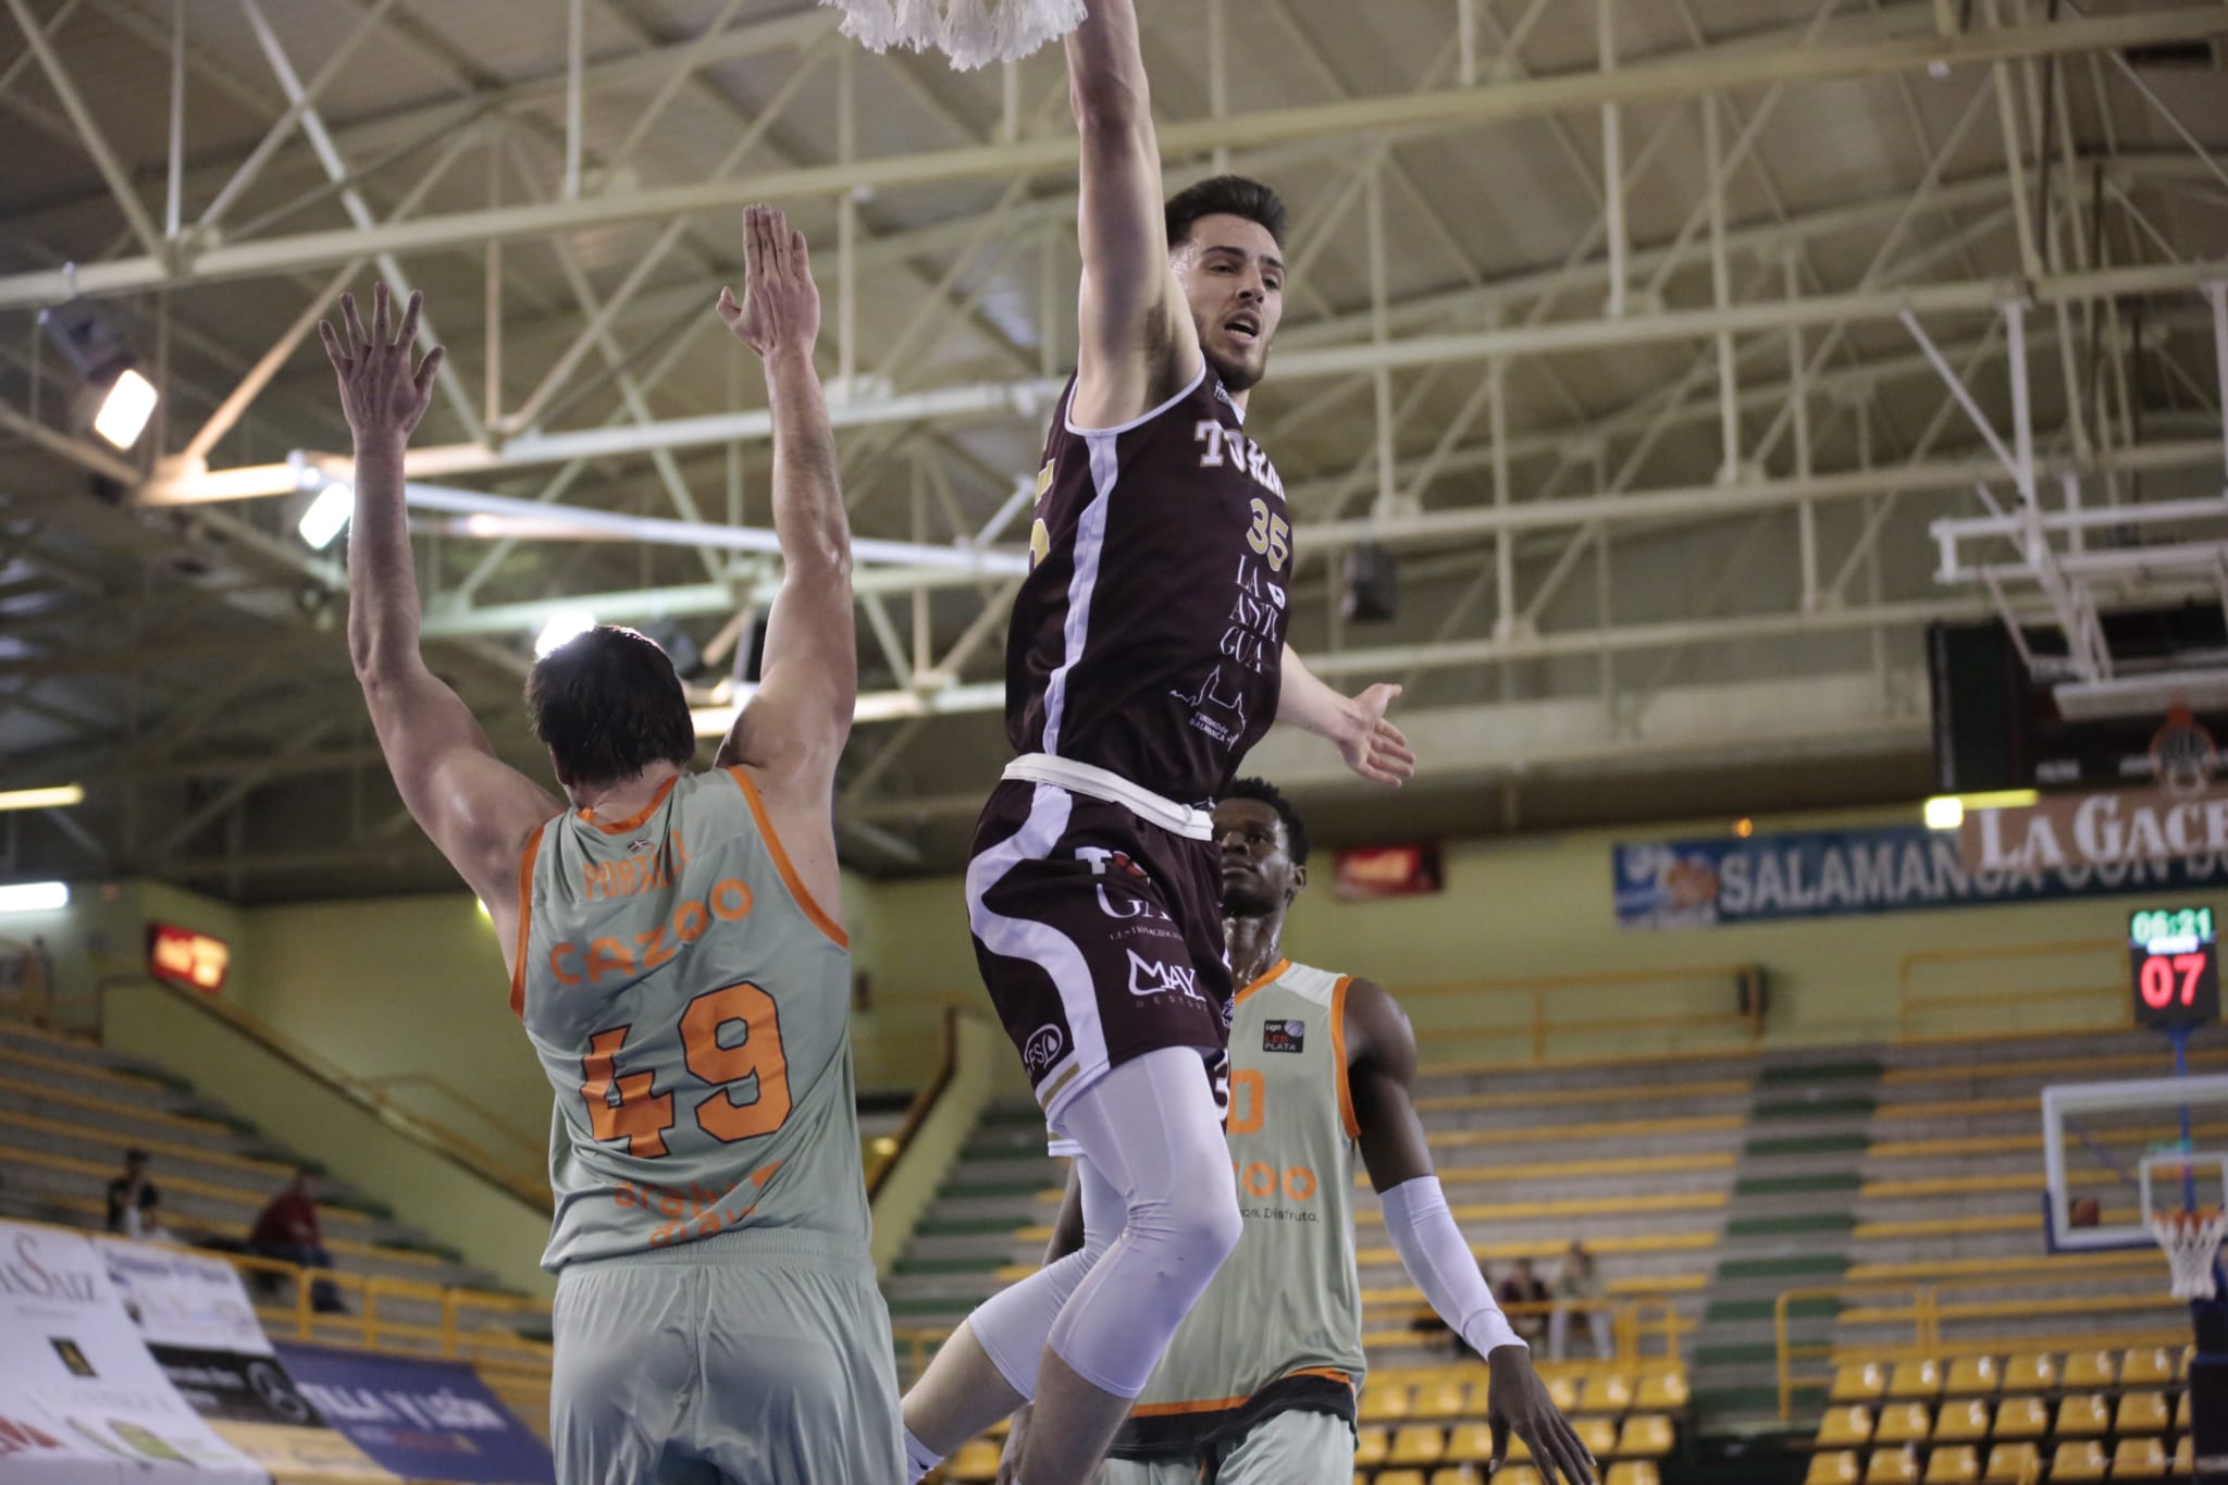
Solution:
M 720 289 L 720 318 L 766 367 L 773 410 L 773 530 L 782 588 L 766 614 L 758 692 L 735 717 L 717 764 L 764 770 L 764 788 L 824 813 L 858 704 L 851 614 L 851 521 L 836 479 L 836 434 L 813 367 L 820 289 L 804 234 L 775 207 L 742 227 L 742 301 Z

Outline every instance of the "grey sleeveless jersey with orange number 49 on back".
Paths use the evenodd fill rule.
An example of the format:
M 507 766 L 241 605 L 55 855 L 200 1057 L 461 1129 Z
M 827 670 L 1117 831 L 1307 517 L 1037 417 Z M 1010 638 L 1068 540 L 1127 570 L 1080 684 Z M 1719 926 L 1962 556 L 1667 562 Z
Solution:
M 706 1240 L 864 1260 L 851 953 L 742 768 L 541 826 L 512 1009 L 557 1095 L 541 1267 Z

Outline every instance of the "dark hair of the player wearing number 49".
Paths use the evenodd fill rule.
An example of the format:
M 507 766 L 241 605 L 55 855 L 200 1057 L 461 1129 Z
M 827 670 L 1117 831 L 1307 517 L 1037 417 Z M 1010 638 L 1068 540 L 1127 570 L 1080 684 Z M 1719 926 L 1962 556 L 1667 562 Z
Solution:
M 688 692 L 673 661 L 651 639 L 610 623 L 535 661 L 526 715 L 573 784 L 617 784 L 651 764 L 695 759 Z

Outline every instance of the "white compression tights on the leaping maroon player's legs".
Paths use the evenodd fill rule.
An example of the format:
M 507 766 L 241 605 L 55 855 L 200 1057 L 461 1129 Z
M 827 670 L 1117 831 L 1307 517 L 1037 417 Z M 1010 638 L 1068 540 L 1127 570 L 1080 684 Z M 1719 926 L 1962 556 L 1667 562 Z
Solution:
M 991 1296 L 967 1325 L 1025 1398 L 1047 1343 L 1092 1387 L 1134 1398 L 1239 1242 L 1221 1113 L 1199 1053 L 1167 1046 L 1112 1069 L 1063 1122 L 1083 1147 L 1083 1251 Z

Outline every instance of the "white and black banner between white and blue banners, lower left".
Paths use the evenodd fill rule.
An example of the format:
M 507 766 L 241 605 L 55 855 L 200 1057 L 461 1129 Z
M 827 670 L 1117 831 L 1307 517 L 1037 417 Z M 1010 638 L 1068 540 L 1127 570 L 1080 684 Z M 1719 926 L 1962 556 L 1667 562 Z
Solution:
M 221 1438 L 283 1485 L 394 1483 L 294 1387 L 229 1262 L 152 1242 L 100 1249 L 147 1349 Z

